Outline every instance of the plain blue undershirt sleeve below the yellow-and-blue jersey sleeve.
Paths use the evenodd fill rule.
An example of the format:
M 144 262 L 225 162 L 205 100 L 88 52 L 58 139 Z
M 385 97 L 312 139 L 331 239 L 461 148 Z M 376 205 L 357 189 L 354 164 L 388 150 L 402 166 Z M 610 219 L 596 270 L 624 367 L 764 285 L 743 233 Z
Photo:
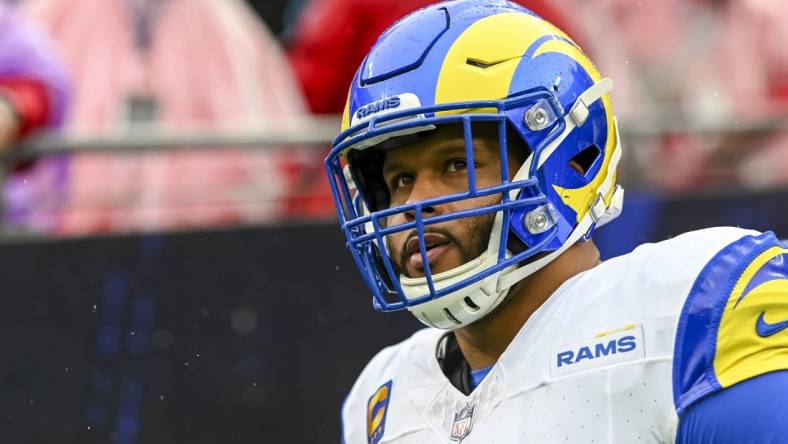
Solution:
M 780 444 L 788 437 L 788 371 L 756 376 L 687 409 L 676 444 Z

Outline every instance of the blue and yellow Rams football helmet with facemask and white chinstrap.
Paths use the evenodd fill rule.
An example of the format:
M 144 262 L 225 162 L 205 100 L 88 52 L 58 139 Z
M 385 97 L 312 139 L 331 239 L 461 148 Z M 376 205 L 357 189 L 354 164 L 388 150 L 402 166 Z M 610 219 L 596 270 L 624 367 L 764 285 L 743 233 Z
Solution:
M 437 328 L 466 326 L 500 304 L 514 284 L 618 216 L 621 147 L 611 89 L 565 33 L 507 1 L 438 3 L 384 32 L 353 79 L 343 131 L 325 162 L 342 230 L 375 308 L 406 308 Z M 474 129 L 482 124 L 498 129 L 501 178 L 492 187 L 477 187 L 472 161 Z M 380 156 L 370 154 L 443 125 L 462 128 L 467 190 L 389 205 L 375 179 Z M 515 141 L 507 137 L 528 150 L 513 177 L 507 146 Z M 481 208 L 425 212 L 494 195 L 501 200 Z M 388 223 L 405 212 L 414 220 Z M 494 215 L 486 251 L 431 273 L 425 230 L 483 214 Z M 418 236 L 423 277 L 404 275 L 391 257 L 386 239 L 403 232 Z

